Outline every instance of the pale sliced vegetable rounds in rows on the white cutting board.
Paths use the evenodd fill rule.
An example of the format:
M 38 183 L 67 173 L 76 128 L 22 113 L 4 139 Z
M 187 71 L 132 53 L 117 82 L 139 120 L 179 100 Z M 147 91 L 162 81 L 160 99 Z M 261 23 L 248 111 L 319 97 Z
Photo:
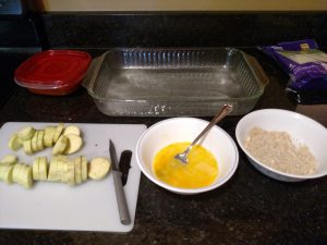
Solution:
M 26 126 L 14 133 L 9 140 L 12 150 L 24 149 L 26 155 L 40 151 L 47 147 L 52 148 L 52 157 L 37 157 L 33 164 L 20 162 L 14 155 L 7 155 L 0 161 L 0 181 L 7 184 L 17 183 L 31 188 L 34 181 L 63 182 L 69 185 L 81 184 L 87 180 L 104 179 L 111 162 L 107 158 L 96 157 L 88 163 L 85 156 L 70 158 L 66 155 L 77 152 L 83 146 L 81 130 L 75 125 L 64 127 L 47 126 L 36 130 Z

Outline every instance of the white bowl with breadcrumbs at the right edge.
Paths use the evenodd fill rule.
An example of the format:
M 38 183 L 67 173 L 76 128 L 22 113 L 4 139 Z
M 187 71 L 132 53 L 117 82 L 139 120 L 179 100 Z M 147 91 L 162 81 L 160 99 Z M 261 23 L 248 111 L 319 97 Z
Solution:
M 327 128 L 303 114 L 253 111 L 240 120 L 235 136 L 250 162 L 269 177 L 300 182 L 327 175 Z

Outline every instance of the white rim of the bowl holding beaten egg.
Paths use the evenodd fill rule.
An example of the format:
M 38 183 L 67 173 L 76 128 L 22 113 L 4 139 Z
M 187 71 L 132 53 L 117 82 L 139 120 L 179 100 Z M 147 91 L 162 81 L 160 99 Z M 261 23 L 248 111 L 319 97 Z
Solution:
M 175 120 L 194 120 L 194 121 L 201 121 L 201 122 L 205 122 L 205 123 L 209 123 L 208 121 L 206 120 L 202 120 L 202 119 L 197 119 L 197 118 L 172 118 L 172 119 L 166 119 L 166 120 L 162 120 L 160 122 L 157 122 L 156 124 L 149 126 L 142 135 L 141 137 L 138 138 L 137 140 L 137 144 L 136 144 L 136 160 L 137 160 L 137 164 L 140 167 L 140 169 L 142 170 L 142 172 L 149 179 L 152 180 L 154 183 L 156 183 L 157 185 L 168 189 L 168 191 L 171 191 L 171 192 L 174 192 L 174 193 L 182 193 L 182 194 L 198 194 L 198 193 L 204 193 L 204 192 L 208 192 L 208 191 L 211 191 L 218 186 L 216 185 L 209 185 L 209 186 L 206 186 L 206 187 L 199 187 L 199 188 L 193 188 L 193 189 L 190 189 L 190 188 L 179 188 L 179 187 L 174 187 L 172 185 L 168 185 L 166 184 L 165 182 L 161 182 L 161 181 L 158 181 L 156 179 L 154 179 L 152 175 L 149 175 L 147 173 L 147 171 L 143 168 L 143 166 L 140 163 L 141 162 L 141 159 L 140 159 L 140 145 L 145 136 L 145 134 L 148 132 L 148 131 L 152 131 L 158 126 L 160 126 L 160 124 L 165 123 L 165 122 L 168 122 L 168 121 L 175 121 Z M 227 181 L 229 181 L 231 179 L 231 176 L 234 174 L 234 172 L 237 171 L 238 169 L 238 166 L 239 166 L 239 150 L 238 150 L 238 146 L 235 144 L 235 142 L 232 139 L 232 137 L 225 131 L 222 130 L 221 127 L 219 127 L 218 125 L 215 125 L 214 127 L 216 127 L 217 130 L 219 130 L 222 134 L 225 134 L 228 139 L 231 142 L 232 146 L 233 146 L 233 149 L 234 149 L 234 157 L 235 157 L 235 161 L 233 163 L 233 168 L 231 169 L 231 171 L 226 175 L 226 177 L 223 179 L 223 181 L 219 182 L 219 186 L 223 185 Z

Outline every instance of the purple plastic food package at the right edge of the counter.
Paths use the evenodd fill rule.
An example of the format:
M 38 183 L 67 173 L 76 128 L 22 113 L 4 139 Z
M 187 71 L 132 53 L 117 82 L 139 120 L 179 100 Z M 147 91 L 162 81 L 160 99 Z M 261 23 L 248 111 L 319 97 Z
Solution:
M 259 48 L 290 75 L 287 90 L 296 95 L 298 102 L 327 102 L 327 53 L 318 49 L 315 40 L 279 42 Z

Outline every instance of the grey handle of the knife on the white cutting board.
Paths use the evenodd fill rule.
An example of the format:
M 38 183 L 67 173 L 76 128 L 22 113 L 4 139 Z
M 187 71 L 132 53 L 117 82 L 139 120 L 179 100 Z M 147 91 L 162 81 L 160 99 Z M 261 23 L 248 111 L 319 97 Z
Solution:
M 130 224 L 131 217 L 130 217 L 129 207 L 124 194 L 124 188 L 121 182 L 121 172 L 113 170 L 112 175 L 113 175 L 114 191 L 116 191 L 116 198 L 117 198 L 120 221 L 122 224 Z

